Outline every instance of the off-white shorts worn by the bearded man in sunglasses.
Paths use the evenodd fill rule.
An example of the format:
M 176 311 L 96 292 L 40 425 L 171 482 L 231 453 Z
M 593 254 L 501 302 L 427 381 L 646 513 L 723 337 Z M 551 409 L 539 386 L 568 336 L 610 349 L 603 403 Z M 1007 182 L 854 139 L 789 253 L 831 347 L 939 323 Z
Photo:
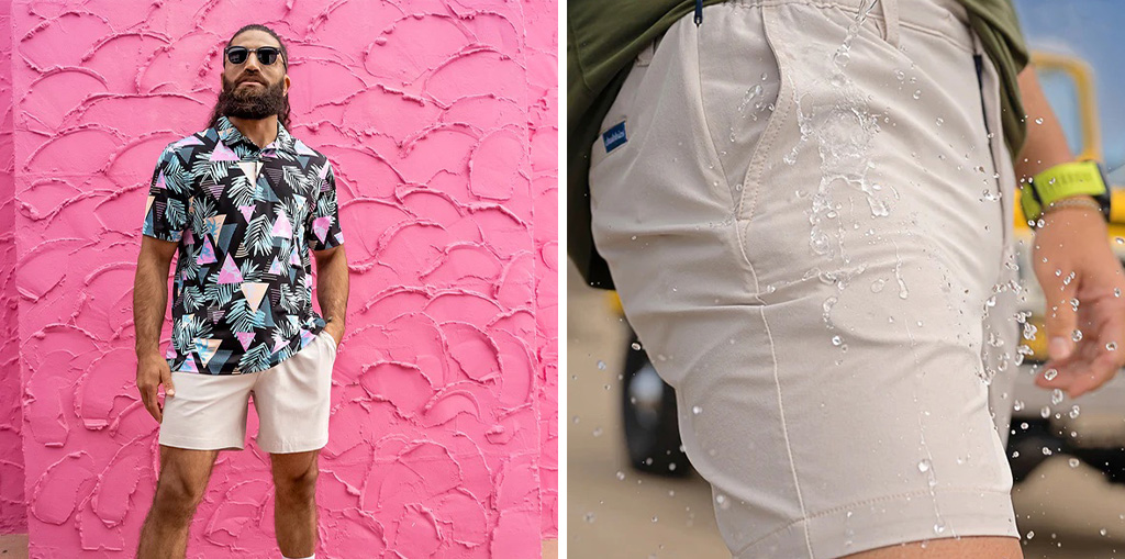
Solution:
M 176 396 L 164 399 L 160 444 L 242 450 L 253 394 L 256 441 L 262 450 L 288 453 L 324 448 L 335 359 L 335 340 L 322 331 L 300 351 L 263 371 L 222 376 L 172 371 Z

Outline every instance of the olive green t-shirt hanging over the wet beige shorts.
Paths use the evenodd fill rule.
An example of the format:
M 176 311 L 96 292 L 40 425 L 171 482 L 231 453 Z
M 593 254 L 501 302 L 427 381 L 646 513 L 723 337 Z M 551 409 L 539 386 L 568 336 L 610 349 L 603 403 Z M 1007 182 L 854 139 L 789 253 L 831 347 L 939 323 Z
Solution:
M 703 4 L 722 1 L 703 0 Z M 1016 9 L 1011 0 L 958 1 L 1000 74 L 1004 139 L 1015 157 L 1027 132 L 1016 76 L 1028 61 Z M 567 1 L 567 253 L 591 286 L 613 288 L 590 228 L 591 147 L 632 61 L 694 9 L 694 0 Z

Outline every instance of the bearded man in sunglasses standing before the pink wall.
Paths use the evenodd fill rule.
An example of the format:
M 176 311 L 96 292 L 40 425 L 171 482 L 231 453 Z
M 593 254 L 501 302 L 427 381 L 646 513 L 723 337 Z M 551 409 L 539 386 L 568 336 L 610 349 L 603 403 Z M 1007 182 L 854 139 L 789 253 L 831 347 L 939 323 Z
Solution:
M 289 126 L 289 55 L 262 25 L 223 56 L 208 128 L 160 155 L 134 286 L 137 388 L 160 423 L 160 476 L 137 557 L 182 558 L 219 450 L 245 444 L 253 394 L 287 559 L 316 548 L 317 456 L 328 440 L 332 366 L 348 261 L 332 164 Z M 324 317 L 313 308 L 312 262 Z M 168 272 L 172 339 L 160 352 Z M 158 388 L 164 387 L 161 403 Z

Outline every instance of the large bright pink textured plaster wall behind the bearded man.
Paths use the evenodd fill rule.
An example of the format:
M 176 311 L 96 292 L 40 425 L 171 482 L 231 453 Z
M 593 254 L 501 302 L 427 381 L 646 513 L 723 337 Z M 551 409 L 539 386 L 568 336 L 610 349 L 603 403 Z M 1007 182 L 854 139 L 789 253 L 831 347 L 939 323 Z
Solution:
M 558 508 L 557 9 L 14 2 L 25 456 L 0 495 L 26 471 L 32 557 L 135 549 L 158 459 L 133 384 L 147 181 L 204 127 L 220 47 L 252 21 L 289 42 L 290 129 L 336 169 L 352 267 L 318 557 L 539 556 Z M 20 429 L 2 420 L 0 444 Z M 222 453 L 188 556 L 276 557 L 269 479 L 252 442 Z

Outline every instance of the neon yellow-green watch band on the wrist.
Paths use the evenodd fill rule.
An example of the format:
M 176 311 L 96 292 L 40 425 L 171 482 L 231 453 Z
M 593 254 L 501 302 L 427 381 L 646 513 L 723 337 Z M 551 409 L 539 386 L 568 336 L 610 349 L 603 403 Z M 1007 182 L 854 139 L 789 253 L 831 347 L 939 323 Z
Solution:
M 1090 196 L 1101 207 L 1101 214 L 1108 222 L 1109 188 L 1106 173 L 1097 161 L 1079 161 L 1054 165 L 1028 179 L 1019 189 L 1019 205 L 1027 223 L 1035 224 L 1043 215 L 1043 208 L 1063 198 L 1073 196 Z

